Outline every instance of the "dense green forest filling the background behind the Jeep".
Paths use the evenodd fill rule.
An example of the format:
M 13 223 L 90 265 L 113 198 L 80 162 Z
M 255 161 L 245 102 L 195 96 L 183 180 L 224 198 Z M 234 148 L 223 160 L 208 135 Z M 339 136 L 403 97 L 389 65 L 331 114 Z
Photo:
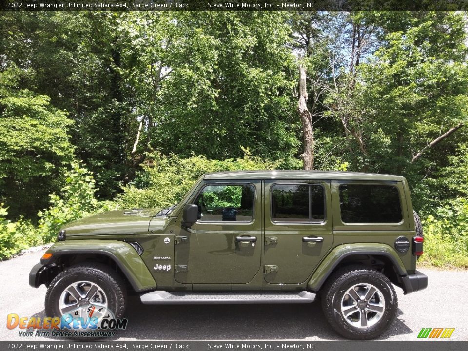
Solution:
M 205 172 L 405 176 L 468 268 L 467 13 L 0 12 L 0 259 Z

